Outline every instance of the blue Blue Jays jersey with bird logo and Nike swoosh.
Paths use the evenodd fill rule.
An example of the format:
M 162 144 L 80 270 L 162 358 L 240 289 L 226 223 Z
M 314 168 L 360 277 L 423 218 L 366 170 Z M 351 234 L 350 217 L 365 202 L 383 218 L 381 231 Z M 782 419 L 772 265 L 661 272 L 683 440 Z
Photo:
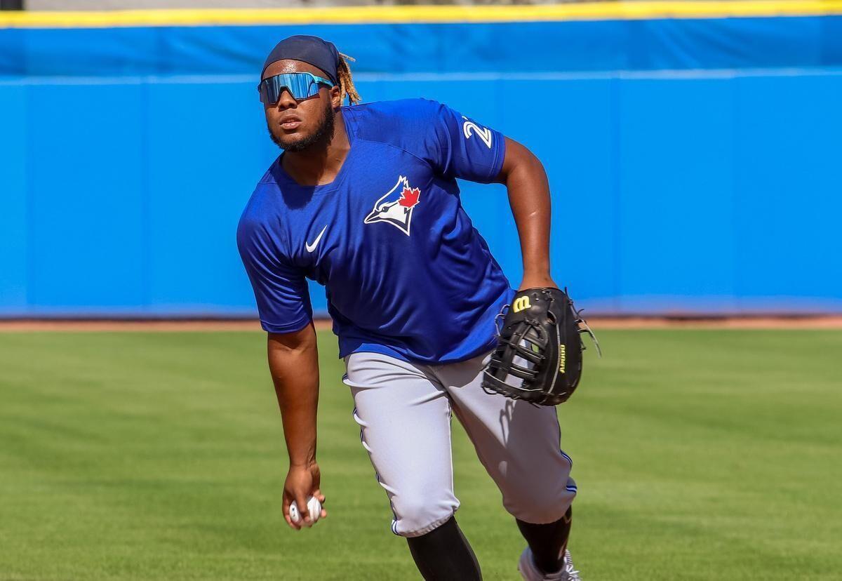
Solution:
M 504 137 L 443 104 L 342 109 L 350 150 L 330 184 L 301 186 L 279 157 L 237 228 L 263 328 L 312 319 L 306 279 L 325 285 L 339 356 L 470 359 L 496 343 L 514 290 L 462 208 L 456 178 L 492 182 Z

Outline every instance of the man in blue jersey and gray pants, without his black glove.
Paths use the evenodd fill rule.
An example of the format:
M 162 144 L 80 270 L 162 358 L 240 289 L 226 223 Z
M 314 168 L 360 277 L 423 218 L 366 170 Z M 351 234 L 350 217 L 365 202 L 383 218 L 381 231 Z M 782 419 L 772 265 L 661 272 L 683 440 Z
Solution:
M 523 577 L 578 578 L 567 551 L 576 485 L 559 450 L 555 408 L 482 390 L 494 318 L 514 290 L 472 227 L 456 183 L 507 186 L 523 253 L 520 288 L 556 286 L 541 163 L 434 101 L 356 104 L 347 62 L 316 37 L 275 46 L 258 91 L 269 135 L 284 152 L 248 201 L 237 243 L 269 333 L 290 456 L 288 524 L 302 525 L 288 515 L 293 501 L 324 500 L 311 279 L 327 289 L 344 382 L 389 498 L 392 531 L 407 538 L 424 578 L 482 578 L 454 518 L 451 413 L 525 537 Z M 343 106 L 346 96 L 351 106 Z

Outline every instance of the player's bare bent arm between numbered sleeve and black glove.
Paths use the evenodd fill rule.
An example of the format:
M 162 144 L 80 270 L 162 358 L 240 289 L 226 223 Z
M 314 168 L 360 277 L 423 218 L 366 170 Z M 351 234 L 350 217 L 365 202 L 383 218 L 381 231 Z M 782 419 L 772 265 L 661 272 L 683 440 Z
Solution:
M 523 287 L 554 285 L 550 276 L 550 184 L 541 161 L 517 141 L 506 139 L 500 181 L 520 237 Z

